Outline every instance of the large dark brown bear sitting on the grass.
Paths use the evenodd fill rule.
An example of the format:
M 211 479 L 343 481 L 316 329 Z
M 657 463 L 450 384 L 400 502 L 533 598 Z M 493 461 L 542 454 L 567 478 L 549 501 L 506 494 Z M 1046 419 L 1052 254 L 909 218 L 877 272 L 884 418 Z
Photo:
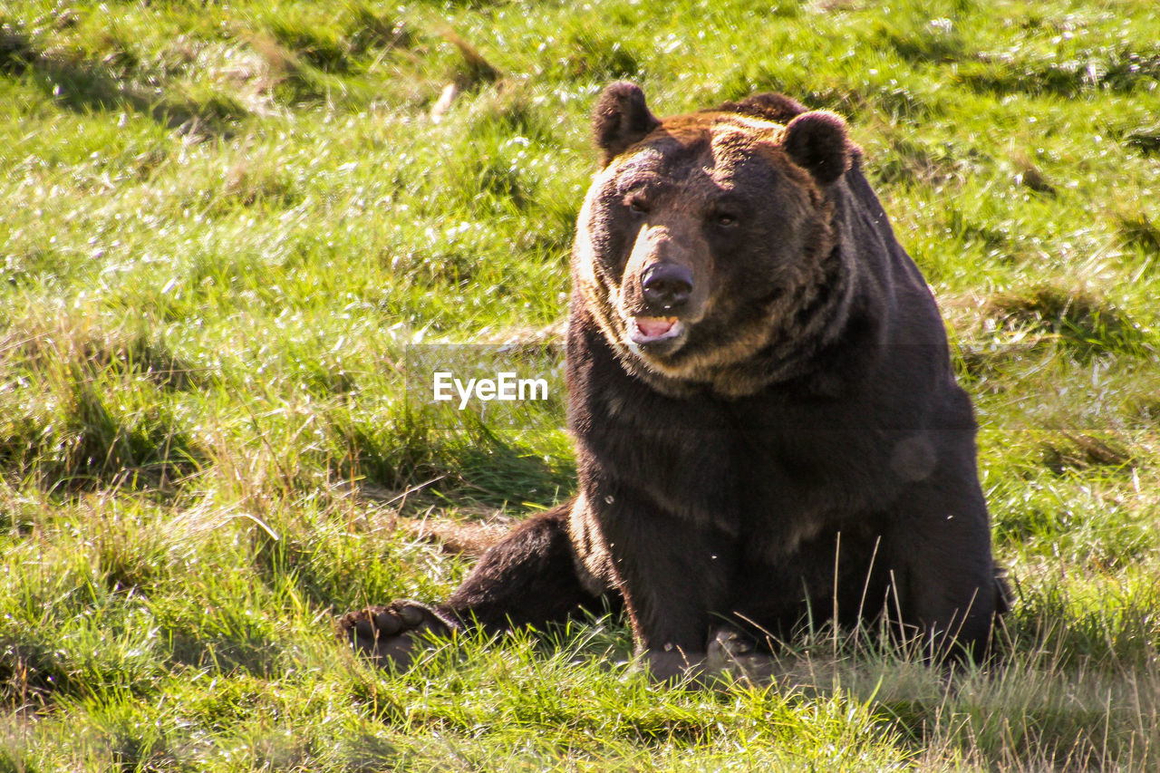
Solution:
M 835 615 L 983 656 L 1006 588 L 971 403 L 846 123 L 777 94 L 660 121 L 626 82 L 594 123 L 567 332 L 579 492 L 444 604 L 341 629 L 405 666 L 418 631 L 611 599 L 659 677 Z

